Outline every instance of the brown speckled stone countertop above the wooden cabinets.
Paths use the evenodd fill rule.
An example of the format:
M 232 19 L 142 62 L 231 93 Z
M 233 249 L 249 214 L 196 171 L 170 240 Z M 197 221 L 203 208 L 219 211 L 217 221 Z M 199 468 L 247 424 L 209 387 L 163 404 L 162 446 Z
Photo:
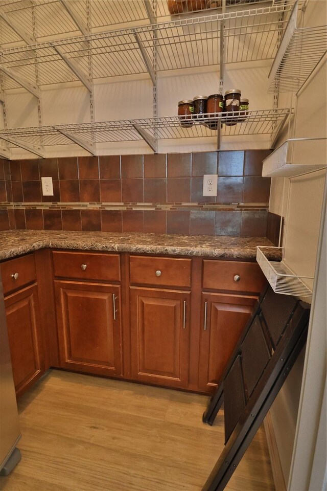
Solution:
M 46 247 L 255 259 L 256 245 L 272 243 L 266 237 L 19 230 L 0 232 L 0 260 Z M 270 253 L 270 259 L 277 259 L 274 250 Z

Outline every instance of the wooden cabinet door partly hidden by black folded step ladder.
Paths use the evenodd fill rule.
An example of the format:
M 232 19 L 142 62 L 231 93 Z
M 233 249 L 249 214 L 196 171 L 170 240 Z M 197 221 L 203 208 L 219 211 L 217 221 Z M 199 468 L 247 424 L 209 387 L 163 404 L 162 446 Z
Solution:
M 214 392 L 258 297 L 203 293 L 199 390 Z

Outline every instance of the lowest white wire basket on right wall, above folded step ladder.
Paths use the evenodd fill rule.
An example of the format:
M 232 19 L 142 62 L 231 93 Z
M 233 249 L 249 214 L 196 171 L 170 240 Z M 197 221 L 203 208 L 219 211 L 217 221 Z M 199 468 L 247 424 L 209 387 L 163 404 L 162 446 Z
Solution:
M 284 259 L 282 261 L 269 261 L 264 254 L 265 249 L 280 253 L 283 252 L 283 248 L 256 246 L 256 261 L 259 263 L 273 291 L 285 295 L 311 298 L 312 290 L 302 280 L 313 280 L 313 277 L 296 275 L 287 266 Z

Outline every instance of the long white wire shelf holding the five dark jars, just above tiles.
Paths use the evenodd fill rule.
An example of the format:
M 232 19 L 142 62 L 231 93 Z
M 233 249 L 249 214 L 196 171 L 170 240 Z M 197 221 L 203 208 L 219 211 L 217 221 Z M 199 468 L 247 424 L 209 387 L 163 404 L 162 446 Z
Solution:
M 9 149 L 24 148 L 40 157 L 46 157 L 46 150 L 51 146 L 72 144 L 76 145 L 76 155 L 79 154 L 80 147 L 89 153 L 96 154 L 94 142 L 97 144 L 145 141 L 153 151 L 157 151 L 157 140 L 217 137 L 218 128 L 222 135 L 230 137 L 240 135 L 271 135 L 273 137 L 289 114 L 289 109 L 267 109 L 249 111 L 246 117 L 239 113 L 234 113 L 232 116 L 229 113 L 216 113 L 201 120 L 181 120 L 178 116 L 170 116 L 16 128 L 0 130 L 0 141 L 7 142 Z

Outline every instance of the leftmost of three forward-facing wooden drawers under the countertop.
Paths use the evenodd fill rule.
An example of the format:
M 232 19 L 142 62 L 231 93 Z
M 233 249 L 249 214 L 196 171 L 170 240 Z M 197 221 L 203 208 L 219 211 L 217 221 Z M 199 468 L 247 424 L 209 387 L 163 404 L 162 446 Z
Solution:
M 54 275 L 78 280 L 120 281 L 119 254 L 53 251 Z

